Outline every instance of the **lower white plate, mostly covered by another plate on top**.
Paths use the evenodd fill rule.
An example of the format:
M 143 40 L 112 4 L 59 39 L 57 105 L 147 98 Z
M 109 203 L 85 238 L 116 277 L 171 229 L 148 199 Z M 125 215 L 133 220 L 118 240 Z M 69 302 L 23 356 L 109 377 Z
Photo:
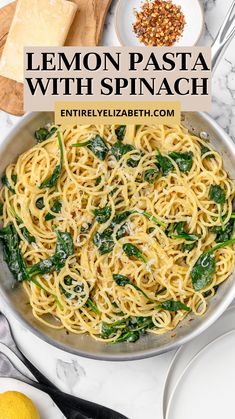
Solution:
M 208 343 L 212 342 L 224 333 L 235 329 L 235 305 L 231 306 L 216 323 L 198 336 L 196 339 L 178 349 L 169 366 L 163 394 L 163 418 L 166 417 L 166 410 L 183 371 L 192 360 Z M 201 418 L 202 419 L 202 418 Z

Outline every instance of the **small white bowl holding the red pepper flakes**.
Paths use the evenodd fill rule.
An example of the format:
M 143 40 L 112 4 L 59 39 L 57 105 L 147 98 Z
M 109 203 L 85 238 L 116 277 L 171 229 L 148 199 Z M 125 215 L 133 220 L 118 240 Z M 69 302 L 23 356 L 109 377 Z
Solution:
M 121 45 L 144 46 L 133 31 L 135 10 L 140 10 L 145 0 L 119 0 L 115 14 L 115 29 Z M 173 0 L 185 16 L 186 25 L 175 47 L 193 46 L 199 41 L 204 27 L 204 13 L 199 0 Z

